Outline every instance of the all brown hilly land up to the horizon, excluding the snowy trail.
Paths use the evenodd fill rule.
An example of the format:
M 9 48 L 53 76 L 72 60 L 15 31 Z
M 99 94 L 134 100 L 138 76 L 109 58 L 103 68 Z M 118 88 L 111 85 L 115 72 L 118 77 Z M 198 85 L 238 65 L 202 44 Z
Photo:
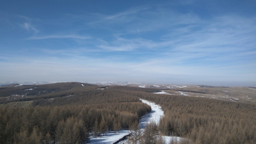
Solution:
M 151 111 L 164 111 L 159 134 L 191 144 L 256 142 L 255 88 L 80 82 L 12 84 L 0 88 L 0 143 L 83 143 L 128 130 Z M 238 100 L 236 100 L 238 99 Z

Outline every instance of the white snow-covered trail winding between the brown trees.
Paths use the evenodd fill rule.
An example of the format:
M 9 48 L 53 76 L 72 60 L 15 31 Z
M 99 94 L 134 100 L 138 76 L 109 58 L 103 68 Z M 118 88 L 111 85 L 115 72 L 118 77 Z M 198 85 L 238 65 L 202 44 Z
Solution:
M 141 99 L 141 101 L 151 106 L 151 112 L 140 119 L 140 127 L 144 128 L 147 122 L 152 121 L 155 121 L 156 124 L 158 124 L 161 116 L 164 116 L 164 111 L 162 110 L 161 106 L 147 100 Z M 122 130 L 119 131 L 119 133 L 109 132 L 105 136 L 101 136 L 99 138 L 91 138 L 90 144 L 113 144 L 127 134 L 129 134 L 129 130 Z

